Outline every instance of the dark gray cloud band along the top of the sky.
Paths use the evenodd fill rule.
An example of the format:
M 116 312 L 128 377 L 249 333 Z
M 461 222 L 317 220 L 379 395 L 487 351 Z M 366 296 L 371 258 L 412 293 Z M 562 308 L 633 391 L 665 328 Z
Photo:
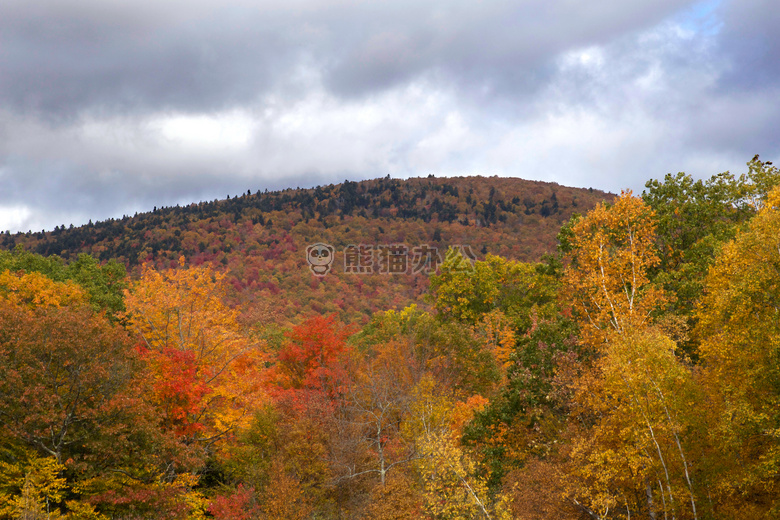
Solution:
M 647 27 L 686 3 L 12 1 L 0 7 L 0 99 L 46 116 L 213 110 L 257 99 L 304 64 L 340 95 L 430 71 L 506 92 L 562 50 Z

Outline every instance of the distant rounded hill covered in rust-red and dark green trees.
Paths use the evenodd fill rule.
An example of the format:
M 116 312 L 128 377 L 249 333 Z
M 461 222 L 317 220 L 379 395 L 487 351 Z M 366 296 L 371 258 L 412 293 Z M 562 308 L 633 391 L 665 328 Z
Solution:
M 353 321 L 377 309 L 421 301 L 428 277 L 422 269 L 411 274 L 417 247 L 427 246 L 442 257 L 449 246 L 460 245 L 470 247 L 477 258 L 493 253 L 539 260 L 554 251 L 555 236 L 573 213 L 585 213 L 612 197 L 513 178 L 388 177 L 313 189 L 248 191 L 81 227 L 4 234 L 0 248 L 21 245 L 66 260 L 89 253 L 101 261 L 117 259 L 131 272 L 147 262 L 173 267 L 184 256 L 195 265 L 224 266 L 236 302 L 246 309 L 265 309 L 280 321 L 330 312 Z M 332 269 L 323 277 L 315 276 L 307 263 L 306 248 L 314 243 L 328 244 L 335 252 Z M 353 244 L 373 253 L 376 272 L 345 272 L 345 248 Z M 390 244 L 405 247 L 405 274 L 378 272 L 383 246 Z

